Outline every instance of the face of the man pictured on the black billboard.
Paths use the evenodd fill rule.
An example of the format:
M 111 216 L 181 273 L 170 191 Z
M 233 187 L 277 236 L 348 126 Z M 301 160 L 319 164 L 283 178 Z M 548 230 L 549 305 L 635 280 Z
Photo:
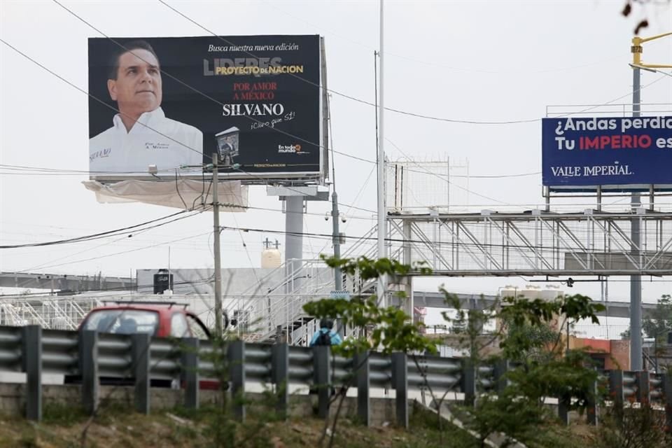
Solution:
M 142 49 L 125 52 L 119 57 L 117 78 L 107 81 L 110 97 L 119 111 L 132 118 L 161 106 L 161 71 L 154 55 Z

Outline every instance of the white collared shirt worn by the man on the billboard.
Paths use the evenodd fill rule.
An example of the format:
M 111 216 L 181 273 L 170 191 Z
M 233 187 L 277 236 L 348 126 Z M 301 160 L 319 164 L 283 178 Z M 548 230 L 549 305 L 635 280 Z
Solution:
M 174 172 L 180 165 L 203 163 L 203 133 L 166 118 L 159 107 L 143 113 L 129 132 L 119 114 L 113 126 L 89 140 L 89 170 L 104 174 L 147 174 L 148 165 Z M 200 172 L 200 170 L 198 170 Z

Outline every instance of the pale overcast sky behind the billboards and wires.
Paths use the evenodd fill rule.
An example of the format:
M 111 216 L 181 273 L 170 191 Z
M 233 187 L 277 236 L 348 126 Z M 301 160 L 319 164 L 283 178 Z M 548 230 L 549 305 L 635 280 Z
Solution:
M 328 84 L 336 92 L 374 101 L 374 50 L 379 48 L 375 1 L 175 1 L 171 6 L 223 36 L 320 34 L 325 37 Z M 643 36 L 672 30 L 668 1 L 636 4 L 623 18 L 613 1 L 388 1 L 385 4 L 385 104 L 426 116 L 476 121 L 535 120 L 549 105 L 624 104 L 631 101 L 630 39 L 644 16 Z M 110 36 L 206 36 L 207 32 L 159 1 L 63 1 Z M 87 38 L 100 34 L 52 1 L 0 2 L 0 36 L 82 89 L 87 89 Z M 672 63 L 672 38 L 646 43 L 644 62 Z M 663 79 L 659 79 L 663 78 Z M 643 73 L 645 103 L 672 103 L 672 78 Z M 113 230 L 165 216 L 175 209 L 145 204 L 98 204 L 87 179 L 87 97 L 0 43 L 1 244 L 50 241 Z M 622 99 L 618 99 L 622 97 Z M 618 107 L 618 106 L 617 106 Z M 667 111 L 670 106 L 667 106 Z M 372 106 L 334 94 L 332 137 L 337 151 L 375 160 Z M 456 207 L 529 209 L 541 204 L 541 123 L 474 125 L 387 112 L 386 153 L 393 160 L 468 161 L 475 176 L 530 174 L 513 179 L 470 179 Z M 391 142 L 391 143 L 390 143 Z M 6 165 L 50 168 L 18 172 Z M 374 224 L 374 165 L 336 155 L 336 188 L 351 238 Z M 82 173 L 73 173 L 73 172 Z M 489 199 L 486 199 L 489 198 Z M 462 201 L 456 202 L 456 201 Z M 626 203 L 626 200 L 621 202 Z M 222 224 L 283 230 L 276 197 L 253 187 L 250 204 L 272 211 L 223 214 Z M 577 209 L 582 209 L 575 202 Z M 361 210 L 365 209 L 365 210 Z M 330 204 L 310 202 L 307 232 L 330 233 Z M 5 272 L 128 276 L 135 269 L 211 267 L 211 214 L 134 235 L 79 244 L 0 252 Z M 258 267 L 262 240 L 282 235 L 223 232 L 224 267 Z M 304 239 L 309 258 L 330 251 L 325 239 Z M 282 248 L 282 246 L 281 246 Z M 344 247 L 344 250 L 347 246 Z M 625 300 L 627 283 L 610 285 Z M 625 280 L 625 279 L 620 279 Z M 445 280 L 453 290 L 496 293 L 524 279 Z M 435 288 L 435 281 L 424 286 Z M 484 290 L 485 289 L 485 290 Z M 599 297 L 597 283 L 575 292 Z M 644 283 L 654 300 L 668 282 Z

